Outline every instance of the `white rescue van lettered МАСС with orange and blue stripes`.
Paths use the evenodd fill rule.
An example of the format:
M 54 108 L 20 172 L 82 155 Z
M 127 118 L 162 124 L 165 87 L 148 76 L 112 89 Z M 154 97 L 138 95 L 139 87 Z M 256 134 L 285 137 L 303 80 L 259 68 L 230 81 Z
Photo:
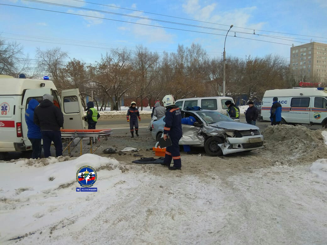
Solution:
M 281 124 L 320 124 L 327 127 L 327 88 L 267 90 L 262 99 L 261 116 L 270 121 L 273 97 L 282 105 Z

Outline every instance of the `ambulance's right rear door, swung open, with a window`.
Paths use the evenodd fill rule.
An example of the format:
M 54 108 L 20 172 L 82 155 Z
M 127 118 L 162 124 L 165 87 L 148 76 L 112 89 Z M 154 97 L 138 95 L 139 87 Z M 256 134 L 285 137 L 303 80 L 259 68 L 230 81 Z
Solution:
M 85 129 L 85 121 L 79 89 L 61 91 L 61 111 L 64 129 Z

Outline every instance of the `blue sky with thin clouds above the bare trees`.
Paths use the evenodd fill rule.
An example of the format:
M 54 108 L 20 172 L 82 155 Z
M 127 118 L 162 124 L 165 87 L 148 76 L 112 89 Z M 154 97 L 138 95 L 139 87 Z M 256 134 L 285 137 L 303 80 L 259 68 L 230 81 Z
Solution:
M 297 46 L 301 45 L 301 42 L 310 42 L 311 39 L 318 42 L 327 42 L 326 0 L 89 0 L 89 2 L 107 6 L 94 5 L 85 3 L 84 1 L 73 0 L 43 0 L 43 2 L 64 4 L 99 11 L 198 25 L 222 30 L 163 23 L 157 20 L 145 20 L 129 16 L 97 12 L 94 10 L 60 7 L 30 1 L 0 0 L 1 4 L 28 7 L 17 8 L 0 5 L 0 23 L 2 23 L 0 26 L 0 35 L 1 38 L 7 39 L 8 41 L 16 40 L 17 42 L 23 44 L 24 50 L 29 54 L 30 58 L 35 57 L 36 47 L 40 47 L 43 50 L 53 47 L 61 47 L 62 50 L 68 52 L 68 56 L 70 58 L 77 58 L 87 63 L 94 63 L 96 60 L 100 59 L 101 54 L 105 54 L 110 48 L 126 47 L 129 50 L 135 50 L 135 45 L 142 44 L 150 51 L 156 51 L 161 54 L 164 50 L 169 53 L 176 51 L 178 44 L 190 46 L 192 42 L 201 44 L 201 46 L 206 49 L 210 57 L 220 57 L 222 56 L 224 49 L 225 35 L 229 29 L 229 25 L 231 24 L 233 24 L 234 27 L 232 27 L 231 31 L 229 32 L 229 36 L 227 37 L 226 41 L 227 56 L 230 55 L 245 58 L 249 55 L 255 57 L 264 56 L 266 54 L 278 54 L 285 57 L 286 60 L 289 60 L 289 50 L 292 43 Z M 109 6 L 120 8 L 113 8 Z M 41 11 L 30 8 L 42 8 L 64 13 Z M 129 8 L 131 10 L 121 8 Z M 176 19 L 138 11 L 146 11 L 216 24 Z M 161 27 L 186 29 L 191 31 L 209 32 L 219 35 L 166 29 L 155 26 L 118 22 L 73 14 L 95 16 Z M 278 36 L 279 39 L 253 35 L 253 29 L 256 29 L 256 34 Z M 245 33 L 236 33 L 237 37 L 234 37 L 234 32 Z M 306 36 L 296 36 L 290 34 Z M 288 45 L 249 40 L 240 37 L 278 42 Z

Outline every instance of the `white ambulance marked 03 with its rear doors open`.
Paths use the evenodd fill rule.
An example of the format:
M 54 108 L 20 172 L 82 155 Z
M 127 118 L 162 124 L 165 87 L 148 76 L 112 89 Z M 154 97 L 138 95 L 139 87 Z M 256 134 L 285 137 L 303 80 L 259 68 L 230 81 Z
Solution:
M 63 128 L 85 129 L 84 108 L 78 89 L 62 90 L 61 96 L 47 76 L 43 80 L 26 79 L 0 75 L 0 159 L 7 152 L 22 152 L 32 149 L 27 138 L 25 111 L 28 102 L 36 99 L 39 103 L 43 94 L 52 94 L 54 105 L 58 106 L 64 117 Z

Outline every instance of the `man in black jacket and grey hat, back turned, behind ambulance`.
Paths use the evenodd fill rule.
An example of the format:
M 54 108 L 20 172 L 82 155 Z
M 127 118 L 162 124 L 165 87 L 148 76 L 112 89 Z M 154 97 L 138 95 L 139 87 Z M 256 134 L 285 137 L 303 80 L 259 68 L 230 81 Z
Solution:
M 41 128 L 44 157 L 51 156 L 50 145 L 52 141 L 56 148 L 56 156 L 61 156 L 60 127 L 63 126 L 63 115 L 60 109 L 53 104 L 52 95 L 43 95 L 43 101 L 34 110 L 34 123 Z

